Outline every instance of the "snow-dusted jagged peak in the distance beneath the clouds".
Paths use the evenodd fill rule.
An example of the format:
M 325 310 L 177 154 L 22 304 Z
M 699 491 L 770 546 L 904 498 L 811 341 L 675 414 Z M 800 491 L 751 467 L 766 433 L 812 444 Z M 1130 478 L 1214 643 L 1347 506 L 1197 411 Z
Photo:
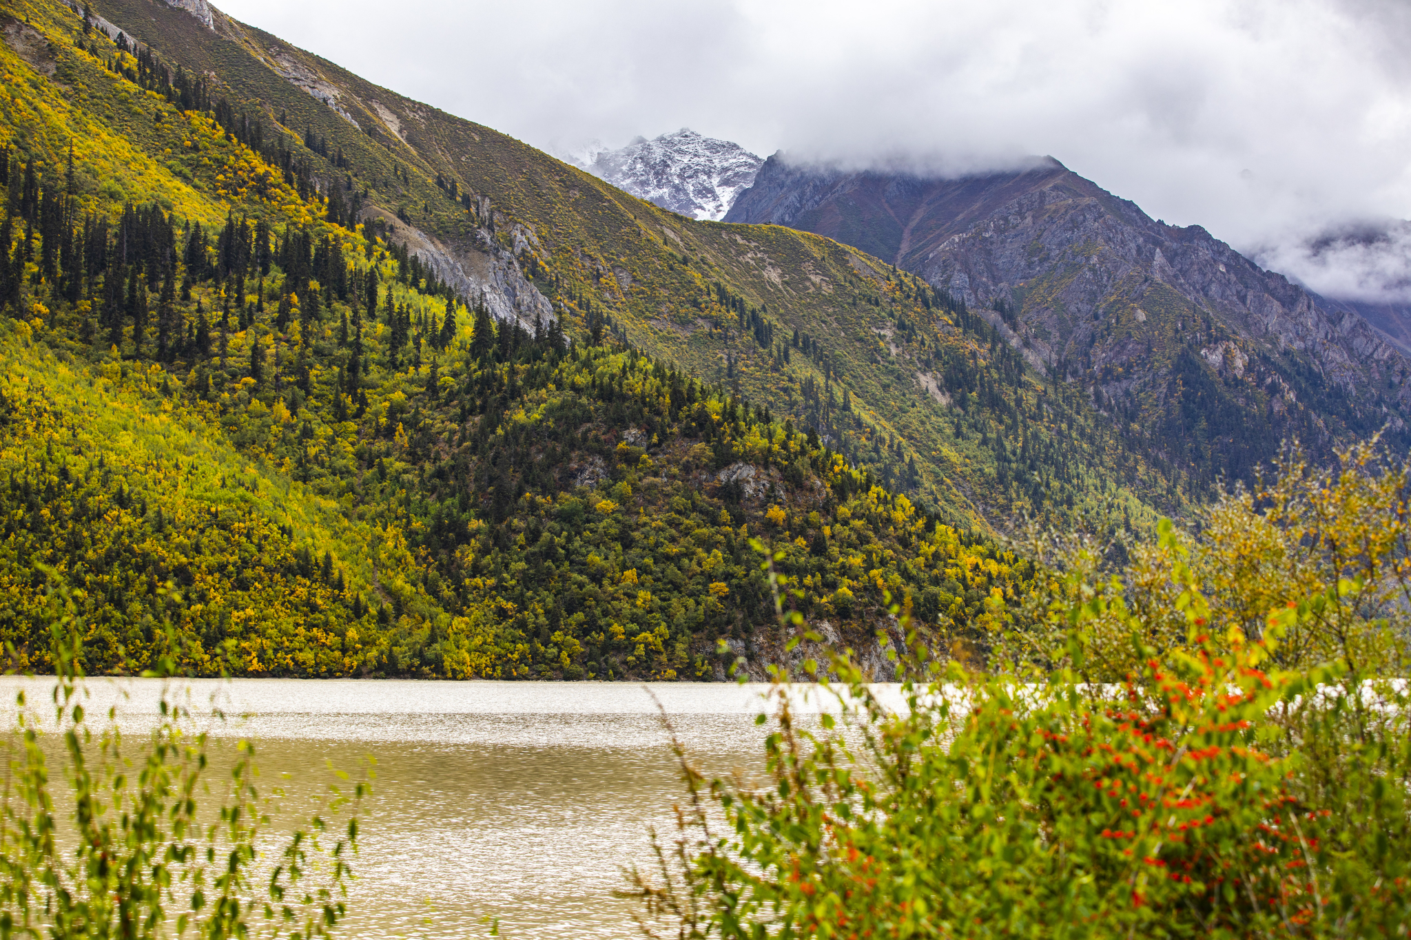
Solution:
M 720 220 L 765 162 L 739 144 L 683 127 L 622 149 L 590 147 L 580 165 L 598 179 L 690 218 Z

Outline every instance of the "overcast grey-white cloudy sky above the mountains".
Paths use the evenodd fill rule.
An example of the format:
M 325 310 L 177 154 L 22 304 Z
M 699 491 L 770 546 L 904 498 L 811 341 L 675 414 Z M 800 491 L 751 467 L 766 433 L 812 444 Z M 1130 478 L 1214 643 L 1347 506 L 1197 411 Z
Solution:
M 1404 0 L 216 0 L 536 147 L 691 127 L 937 172 L 1050 154 L 1315 289 L 1411 299 Z M 1397 286 L 1400 285 L 1400 287 Z

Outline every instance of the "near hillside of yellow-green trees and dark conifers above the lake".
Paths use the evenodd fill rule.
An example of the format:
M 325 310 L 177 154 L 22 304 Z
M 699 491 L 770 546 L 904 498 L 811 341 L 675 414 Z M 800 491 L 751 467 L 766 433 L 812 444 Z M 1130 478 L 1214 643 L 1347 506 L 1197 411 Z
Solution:
M 346 155 L 123 32 L 61 4 L 3 30 L 13 665 L 47 667 L 51 579 L 92 669 L 169 651 L 195 674 L 310 676 L 758 669 L 785 640 L 762 548 L 783 602 L 859 645 L 889 593 L 979 644 L 986 602 L 1024 593 L 1027 562 L 883 485 L 916 461 L 834 388 L 821 342 L 773 335 L 725 282 L 652 296 L 749 335 L 780 382 L 807 368 L 799 417 L 748 396 L 734 358 L 701 376 L 648 355 L 581 286 L 557 317 L 497 320 L 502 295 L 439 276 L 332 178 Z M 490 211 L 476 228 L 511 230 Z M 535 252 L 515 264 L 562 280 Z M 948 355 L 965 407 L 1012 416 L 1010 462 L 1057 472 L 1020 419 L 1061 406 L 983 324 L 895 273 L 854 289 L 916 311 L 890 314 L 895 342 Z

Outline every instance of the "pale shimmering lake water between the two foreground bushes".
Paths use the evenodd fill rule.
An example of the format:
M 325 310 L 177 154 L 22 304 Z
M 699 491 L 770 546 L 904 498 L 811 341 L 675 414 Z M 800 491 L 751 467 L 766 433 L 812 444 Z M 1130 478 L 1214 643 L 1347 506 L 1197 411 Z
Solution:
M 0 681 L 14 702 L 21 681 Z M 52 684 L 30 681 L 30 700 Z M 95 681 L 90 715 L 116 702 L 140 727 L 161 684 Z M 229 715 L 227 737 L 258 741 L 267 781 L 319 784 L 332 761 L 377 757 L 361 827 L 350 937 L 634 936 L 619 867 L 648 860 L 646 827 L 666 827 L 680 795 L 660 702 L 711 772 L 758 769 L 762 686 L 532 682 L 192 681 L 193 703 Z M 648 692 L 650 689 L 650 693 Z M 13 709 L 11 709 L 13 710 Z M 322 781 L 326 774 L 315 774 Z

